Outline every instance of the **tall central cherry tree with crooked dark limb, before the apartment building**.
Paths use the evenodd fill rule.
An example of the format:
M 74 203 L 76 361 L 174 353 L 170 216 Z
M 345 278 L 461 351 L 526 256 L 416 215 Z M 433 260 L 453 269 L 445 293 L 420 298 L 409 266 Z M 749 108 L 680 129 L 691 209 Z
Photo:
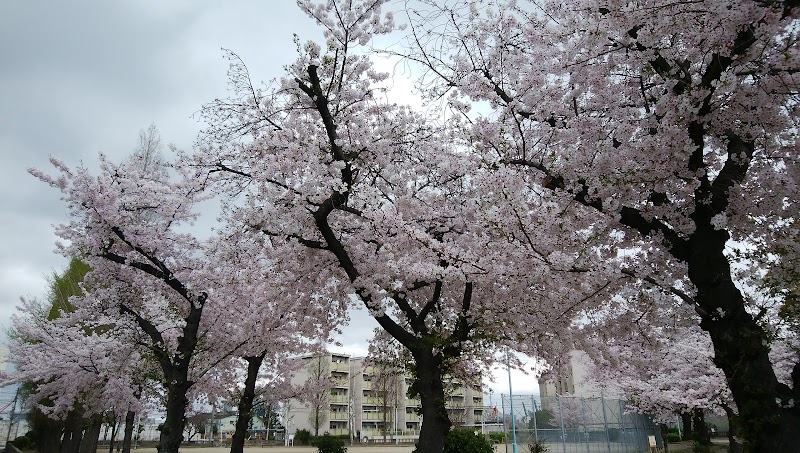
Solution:
M 419 451 L 438 452 L 450 427 L 445 375 L 490 362 L 497 345 L 548 351 L 613 285 L 582 265 L 600 230 L 544 240 L 584 213 L 554 218 L 558 204 L 530 181 L 468 152 L 458 118 L 386 99 L 388 75 L 364 47 L 394 26 L 383 3 L 299 2 L 327 42 L 298 44 L 271 87 L 255 88 L 228 53 L 232 96 L 205 106 L 201 150 L 184 165 L 232 200 L 229 221 L 270 238 L 282 269 L 330 289 L 334 310 L 362 304 L 408 349 Z

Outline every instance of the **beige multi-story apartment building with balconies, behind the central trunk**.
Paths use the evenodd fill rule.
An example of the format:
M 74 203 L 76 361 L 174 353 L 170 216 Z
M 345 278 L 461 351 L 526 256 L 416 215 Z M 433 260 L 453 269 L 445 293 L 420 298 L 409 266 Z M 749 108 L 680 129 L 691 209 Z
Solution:
M 363 358 L 327 354 L 303 358 L 305 366 L 293 383 L 328 377 L 331 385 L 306 401 L 292 400 L 287 411 L 287 430 L 307 429 L 312 434 L 350 435 L 362 440 L 413 441 L 422 426 L 421 402 L 409 398 L 411 378 L 400 372 L 384 376 L 366 366 Z M 448 383 L 447 411 L 453 425 L 480 425 L 483 393 L 480 387 Z

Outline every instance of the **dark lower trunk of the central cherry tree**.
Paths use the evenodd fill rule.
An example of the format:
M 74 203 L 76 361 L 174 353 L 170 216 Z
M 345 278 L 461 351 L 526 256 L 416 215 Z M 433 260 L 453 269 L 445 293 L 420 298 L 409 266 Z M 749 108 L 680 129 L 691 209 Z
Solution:
M 417 364 L 416 388 L 423 419 L 415 453 L 442 453 L 451 424 L 445 406 L 441 359 L 431 351 L 412 351 L 412 355 Z

